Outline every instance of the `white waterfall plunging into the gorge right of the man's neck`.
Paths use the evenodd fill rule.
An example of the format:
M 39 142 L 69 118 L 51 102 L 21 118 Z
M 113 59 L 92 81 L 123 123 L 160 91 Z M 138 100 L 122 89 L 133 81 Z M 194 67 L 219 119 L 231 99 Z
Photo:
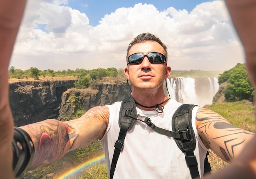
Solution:
M 192 78 L 192 77 L 176 77 L 166 80 L 167 88 L 164 88 L 168 97 L 177 102 L 186 104 L 197 104 L 204 106 L 212 104 L 213 96 L 219 89 L 218 79 L 214 78 Z

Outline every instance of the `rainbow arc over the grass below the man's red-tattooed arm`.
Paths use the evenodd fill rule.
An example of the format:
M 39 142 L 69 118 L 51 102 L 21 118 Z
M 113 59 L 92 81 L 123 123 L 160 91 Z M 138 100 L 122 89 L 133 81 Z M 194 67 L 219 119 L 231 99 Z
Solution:
M 74 173 L 79 172 L 82 169 L 86 168 L 87 166 L 97 163 L 103 159 L 105 159 L 105 155 L 101 154 L 101 155 L 95 157 L 94 159 L 90 159 L 89 161 L 86 161 L 85 163 L 80 164 L 79 166 L 71 168 L 69 171 L 63 173 L 61 176 L 58 176 L 57 179 L 68 179 L 67 177 L 71 177 Z

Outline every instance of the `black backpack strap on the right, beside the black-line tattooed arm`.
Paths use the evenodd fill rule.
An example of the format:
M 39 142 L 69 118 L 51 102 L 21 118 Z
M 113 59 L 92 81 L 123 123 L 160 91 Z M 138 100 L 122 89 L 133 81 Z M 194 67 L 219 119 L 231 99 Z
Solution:
M 185 153 L 186 164 L 189 166 L 192 178 L 199 177 L 198 163 L 194 155 L 195 133 L 192 127 L 192 109 L 196 105 L 182 104 L 174 113 L 173 132 L 179 132 L 183 139 L 175 139 L 177 146 Z

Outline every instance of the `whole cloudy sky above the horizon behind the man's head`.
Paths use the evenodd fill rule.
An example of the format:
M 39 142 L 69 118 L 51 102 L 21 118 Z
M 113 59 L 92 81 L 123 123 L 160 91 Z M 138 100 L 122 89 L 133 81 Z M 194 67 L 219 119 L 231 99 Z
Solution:
M 147 32 L 168 47 L 172 70 L 245 62 L 222 0 L 28 0 L 9 67 L 125 68 L 128 44 Z

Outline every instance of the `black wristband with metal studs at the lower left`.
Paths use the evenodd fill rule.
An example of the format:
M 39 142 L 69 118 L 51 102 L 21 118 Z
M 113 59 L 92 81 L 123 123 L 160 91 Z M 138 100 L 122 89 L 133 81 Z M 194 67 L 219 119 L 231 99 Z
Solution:
M 34 144 L 28 133 L 18 127 L 14 127 L 13 148 L 13 172 L 16 177 L 20 176 L 34 157 Z

